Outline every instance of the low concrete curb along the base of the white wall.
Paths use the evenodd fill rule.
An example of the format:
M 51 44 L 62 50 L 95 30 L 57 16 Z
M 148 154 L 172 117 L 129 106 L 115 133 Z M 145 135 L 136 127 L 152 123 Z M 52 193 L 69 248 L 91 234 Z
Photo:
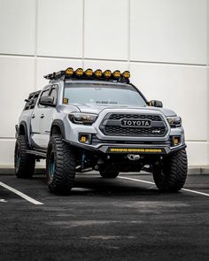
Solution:
M 39 166 L 35 168 L 35 174 L 44 174 L 45 169 L 42 166 Z M 93 172 L 97 173 L 97 172 Z M 0 165 L 0 175 L 11 175 L 14 174 L 14 169 L 11 165 Z M 133 174 L 133 173 L 127 173 L 127 174 Z M 141 172 L 140 174 L 147 174 L 145 172 Z M 209 165 L 205 166 L 189 166 L 188 170 L 189 175 L 194 174 L 209 174 Z

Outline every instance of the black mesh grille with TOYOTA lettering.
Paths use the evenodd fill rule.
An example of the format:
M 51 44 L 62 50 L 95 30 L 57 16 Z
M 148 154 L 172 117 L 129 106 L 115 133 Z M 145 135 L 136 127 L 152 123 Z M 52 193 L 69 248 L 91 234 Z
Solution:
M 105 119 L 112 119 L 113 124 L 108 121 L 106 124 Z M 150 119 L 152 122 L 159 122 L 160 126 L 151 127 L 122 127 L 121 119 Z M 161 122 L 161 123 L 160 123 Z M 163 124 L 164 123 L 164 124 Z M 101 131 L 105 135 L 112 136 L 140 136 L 140 137 L 163 137 L 166 135 L 167 128 L 164 119 L 160 115 L 151 114 L 128 114 L 128 113 L 112 113 L 107 114 L 103 123 L 100 125 Z

